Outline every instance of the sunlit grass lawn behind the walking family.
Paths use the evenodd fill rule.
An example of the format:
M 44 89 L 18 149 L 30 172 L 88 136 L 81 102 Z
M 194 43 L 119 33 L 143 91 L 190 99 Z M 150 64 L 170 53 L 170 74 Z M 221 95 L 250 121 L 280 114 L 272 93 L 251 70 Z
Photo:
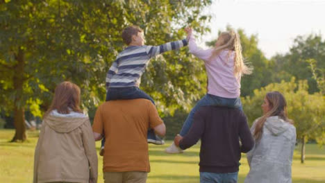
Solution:
M 26 143 L 8 143 L 14 130 L 0 130 L 0 182 L 25 183 L 33 180 L 33 155 L 38 140 L 38 132 L 28 132 Z M 169 146 L 149 145 L 151 173 L 147 182 L 199 182 L 199 145 L 186 150 L 181 155 L 167 155 L 163 150 Z M 97 142 L 97 149 L 100 142 Z M 315 144 L 306 146 L 306 162 L 300 164 L 299 146 L 294 152 L 292 164 L 292 182 L 325 182 L 325 148 L 319 149 Z M 99 157 L 99 183 L 103 182 L 102 157 Z M 239 182 L 249 172 L 246 157 L 240 162 Z

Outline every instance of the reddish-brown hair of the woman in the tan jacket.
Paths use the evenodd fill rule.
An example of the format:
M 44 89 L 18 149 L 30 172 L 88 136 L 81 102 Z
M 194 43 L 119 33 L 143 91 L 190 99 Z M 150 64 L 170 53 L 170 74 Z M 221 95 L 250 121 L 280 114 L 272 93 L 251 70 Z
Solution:
M 80 88 L 78 85 L 69 81 L 61 82 L 56 86 L 53 101 L 44 116 L 47 116 L 52 110 L 57 110 L 60 114 L 69 114 L 70 110 L 81 113 L 79 105 Z

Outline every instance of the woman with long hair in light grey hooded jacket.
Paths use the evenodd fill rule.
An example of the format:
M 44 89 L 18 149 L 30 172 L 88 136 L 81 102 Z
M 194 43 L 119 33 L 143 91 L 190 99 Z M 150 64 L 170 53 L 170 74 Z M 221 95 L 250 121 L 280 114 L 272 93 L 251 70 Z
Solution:
M 263 116 L 251 127 L 255 146 L 247 153 L 250 171 L 246 183 L 289 183 L 296 128 L 287 116 L 280 92 L 269 92 L 262 104 Z

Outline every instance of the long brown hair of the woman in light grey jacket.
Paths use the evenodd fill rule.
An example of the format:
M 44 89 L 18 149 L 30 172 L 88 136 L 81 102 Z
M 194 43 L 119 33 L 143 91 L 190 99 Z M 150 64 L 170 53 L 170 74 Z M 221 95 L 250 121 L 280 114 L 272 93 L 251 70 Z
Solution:
M 253 132 L 253 137 L 256 140 L 259 140 L 262 137 L 263 126 L 266 119 L 269 116 L 278 116 L 288 123 L 293 123 L 291 119 L 288 119 L 287 114 L 287 102 L 285 101 L 284 96 L 280 92 L 268 92 L 265 96 L 267 101 L 269 102 L 269 107 L 271 110 L 264 114 L 255 125 L 255 130 Z

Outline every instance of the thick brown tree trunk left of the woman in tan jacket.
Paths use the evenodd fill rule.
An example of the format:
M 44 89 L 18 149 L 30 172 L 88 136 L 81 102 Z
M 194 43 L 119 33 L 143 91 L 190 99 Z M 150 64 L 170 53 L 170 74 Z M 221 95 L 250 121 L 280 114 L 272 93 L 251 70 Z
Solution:
M 17 64 L 15 66 L 13 77 L 13 85 L 15 89 L 15 103 L 14 103 L 14 124 L 16 128 L 15 136 L 12 138 L 14 141 L 26 140 L 26 126 L 24 115 L 24 101 L 23 101 L 23 86 L 24 86 L 24 51 L 19 48 L 17 55 L 15 55 Z

